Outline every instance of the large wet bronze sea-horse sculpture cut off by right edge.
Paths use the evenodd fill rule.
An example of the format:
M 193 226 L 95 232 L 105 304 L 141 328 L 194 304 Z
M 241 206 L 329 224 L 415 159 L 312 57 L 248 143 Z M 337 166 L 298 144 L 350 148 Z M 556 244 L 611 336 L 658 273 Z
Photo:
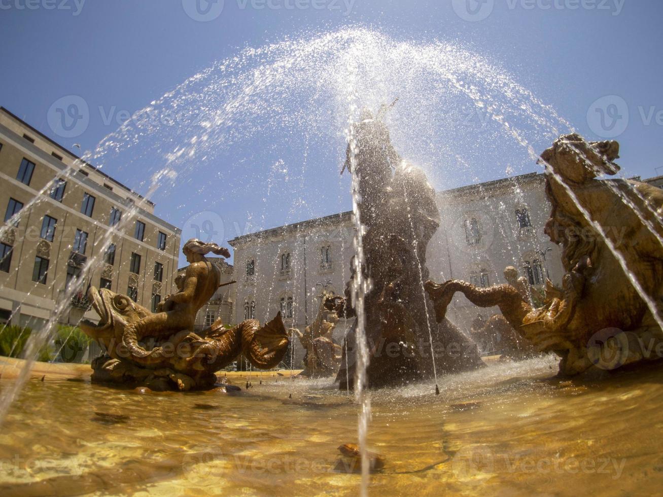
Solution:
M 566 270 L 562 288 L 546 284 L 543 307 L 510 285 L 427 282 L 437 319 L 455 292 L 481 307 L 497 305 L 538 351 L 562 357 L 566 375 L 660 359 L 663 192 L 634 180 L 595 179 L 616 174 L 617 158 L 619 143 L 579 135 L 558 138 L 541 156 L 552 205 L 544 232 L 562 247 Z

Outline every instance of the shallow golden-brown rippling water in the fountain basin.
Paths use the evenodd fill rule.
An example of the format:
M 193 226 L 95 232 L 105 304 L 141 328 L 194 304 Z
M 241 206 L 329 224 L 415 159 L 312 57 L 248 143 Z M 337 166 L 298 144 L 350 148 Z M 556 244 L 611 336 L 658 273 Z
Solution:
M 373 392 L 369 445 L 386 466 L 369 492 L 658 493 L 660 366 L 593 383 L 555 372 L 554 358 L 496 363 L 440 378 L 437 397 L 430 384 Z M 0 435 L 0 494 L 357 494 L 361 476 L 334 469 L 357 439 L 354 401 L 330 380 L 252 383 L 140 396 L 33 380 Z

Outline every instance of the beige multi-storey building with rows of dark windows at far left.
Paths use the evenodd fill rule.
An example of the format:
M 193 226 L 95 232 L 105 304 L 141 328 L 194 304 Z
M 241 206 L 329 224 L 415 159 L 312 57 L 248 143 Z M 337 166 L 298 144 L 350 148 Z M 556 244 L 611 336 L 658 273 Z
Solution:
M 59 317 L 65 323 L 84 313 L 97 319 L 84 298 L 90 284 L 149 309 L 176 291 L 180 229 L 156 217 L 153 203 L 2 107 L 0 179 L 2 321 L 38 327 L 68 284 L 76 294 Z M 81 274 L 93 256 L 98 264 Z

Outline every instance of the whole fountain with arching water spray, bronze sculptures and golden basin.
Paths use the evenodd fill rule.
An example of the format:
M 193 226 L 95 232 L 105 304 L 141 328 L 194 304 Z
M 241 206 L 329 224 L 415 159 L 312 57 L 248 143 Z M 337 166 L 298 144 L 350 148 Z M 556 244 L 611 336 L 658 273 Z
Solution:
M 360 116 L 361 106 L 375 109 L 394 94 L 400 100 L 389 113 Z M 481 123 L 468 130 L 479 111 Z M 140 119 L 192 112 L 195 124 Z M 186 278 L 154 314 L 125 296 L 90 290 L 101 326 L 81 325 L 109 350 L 94 364 L 95 380 L 200 391 L 109 390 L 90 382 L 89 366 L 34 360 L 69 305 L 66 294 L 30 336 L 25 364 L 2 362 L 0 494 L 658 492 L 663 384 L 660 364 L 642 359 L 646 351 L 659 355 L 661 193 L 630 180 L 597 179 L 596 167 L 617 170 L 613 143 L 565 136 L 539 157 L 536 150 L 569 131 L 552 107 L 485 58 L 453 43 L 396 40 L 367 28 L 249 48 L 192 76 L 84 158 L 130 171 L 136 188 L 148 198 L 170 196 L 184 218 L 225 212 L 233 203 L 257 229 L 347 211 L 347 176 L 339 178 L 333 164 L 349 145 L 356 256 L 344 300 L 325 306 L 328 317 L 335 311 L 356 318 L 338 381 L 327 374 L 228 372 L 229 383 L 253 380 L 253 388 L 207 390 L 238 353 L 265 368 L 288 344 L 280 315 L 271 320 L 274 305 L 258 311 L 261 322 L 269 321 L 264 327 L 249 320 L 225 330 L 215 323 L 193 334 L 198 304 L 186 310 L 185 301 L 213 293 L 216 278 L 208 272 L 200 293 L 187 289 Z M 438 211 L 429 181 L 442 190 L 511 176 L 519 168 L 529 172 L 539 158 L 553 205 L 547 231 L 564 249 L 566 271 L 561 288 L 548 285 L 544 307 L 534 309 L 528 292 L 516 288 L 518 278 L 515 287 L 477 289 L 453 280 L 459 268 L 434 267 L 432 254 L 444 246 L 432 239 L 439 219 L 459 212 Z M 482 178 L 485 164 L 489 178 Z M 305 189 L 312 198 L 298 193 Z M 515 186 L 513 193 L 520 195 Z M 99 233 L 99 253 L 135 215 L 128 211 L 115 229 Z M 204 235 L 221 240 L 219 231 Z M 306 249 L 307 241 L 299 237 L 296 245 Z M 510 265 L 518 264 L 518 244 L 509 241 Z M 191 272 L 204 271 L 204 254 L 192 249 L 189 256 Z M 82 271 L 99 262 L 90 257 Z M 279 285 L 310 291 L 295 278 L 269 280 L 275 267 L 253 269 L 255 288 L 265 288 L 272 304 Z M 429 278 L 452 281 L 424 287 Z M 551 351 L 562 364 L 544 354 L 483 366 L 458 331 L 468 323 L 446 319 L 456 290 L 475 304 L 500 305 L 503 317 L 491 322 L 520 335 L 514 347 Z M 326 338 L 322 333 L 318 339 Z M 188 345 L 190 354 L 164 357 L 166 344 Z M 470 353 L 453 357 L 451 351 L 467 350 L 461 345 Z M 617 360 L 608 360 L 611 354 Z M 576 374 L 622 364 L 638 367 L 601 382 Z M 576 375 L 554 376 L 558 366 Z M 361 466 L 361 480 L 356 467 L 339 465 L 339 451 Z

